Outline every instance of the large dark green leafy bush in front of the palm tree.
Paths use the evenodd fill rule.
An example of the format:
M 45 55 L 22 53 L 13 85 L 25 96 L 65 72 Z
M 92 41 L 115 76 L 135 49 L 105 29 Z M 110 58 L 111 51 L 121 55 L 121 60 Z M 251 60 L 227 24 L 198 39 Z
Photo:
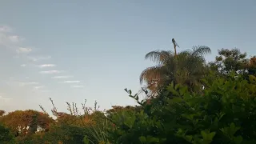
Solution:
M 205 83 L 203 94 L 170 85 L 151 104 L 142 102 L 140 112 L 112 114 L 109 142 L 256 143 L 256 78 L 230 75 Z

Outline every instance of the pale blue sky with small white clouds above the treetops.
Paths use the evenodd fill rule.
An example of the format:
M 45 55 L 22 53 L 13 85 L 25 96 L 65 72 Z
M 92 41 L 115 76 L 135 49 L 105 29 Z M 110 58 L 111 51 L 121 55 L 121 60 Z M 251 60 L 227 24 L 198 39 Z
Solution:
M 0 110 L 134 105 L 151 50 L 256 54 L 255 0 L 0 0 Z M 81 107 L 81 106 L 80 106 Z

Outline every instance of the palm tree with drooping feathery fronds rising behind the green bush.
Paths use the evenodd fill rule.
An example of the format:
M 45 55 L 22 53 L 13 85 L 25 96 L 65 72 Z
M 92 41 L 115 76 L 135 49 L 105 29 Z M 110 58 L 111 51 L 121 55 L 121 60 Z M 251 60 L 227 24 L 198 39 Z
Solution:
M 177 43 L 175 42 L 174 50 Z M 178 54 L 171 50 L 155 50 L 146 54 L 145 58 L 156 62 L 142 71 L 140 82 L 146 82 L 151 94 L 158 94 L 158 91 L 174 82 L 186 85 L 194 90 L 200 85 L 199 80 L 205 72 L 205 54 L 210 54 L 208 46 L 193 46 L 192 50 L 184 50 Z

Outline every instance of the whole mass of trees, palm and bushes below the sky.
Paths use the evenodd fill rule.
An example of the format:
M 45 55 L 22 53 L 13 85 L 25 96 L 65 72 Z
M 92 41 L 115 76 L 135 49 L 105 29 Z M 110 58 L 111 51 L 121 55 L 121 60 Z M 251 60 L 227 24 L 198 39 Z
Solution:
M 98 110 L 67 104 L 69 114 L 0 110 L 0 143 L 169 144 L 256 143 L 256 57 L 222 49 L 207 63 L 207 46 L 146 54 L 157 66 L 142 71 L 147 97 L 126 90 L 137 106 Z

